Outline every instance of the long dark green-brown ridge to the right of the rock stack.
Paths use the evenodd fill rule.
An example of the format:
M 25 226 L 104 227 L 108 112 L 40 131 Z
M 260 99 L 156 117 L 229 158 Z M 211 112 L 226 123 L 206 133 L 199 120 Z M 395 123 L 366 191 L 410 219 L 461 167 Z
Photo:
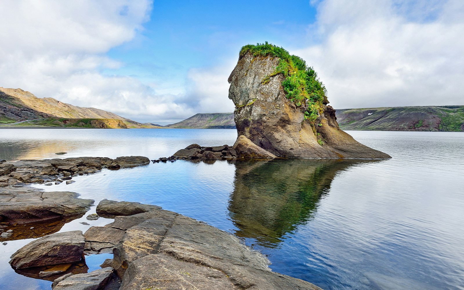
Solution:
M 340 109 L 335 114 L 343 130 L 464 131 L 464 106 Z

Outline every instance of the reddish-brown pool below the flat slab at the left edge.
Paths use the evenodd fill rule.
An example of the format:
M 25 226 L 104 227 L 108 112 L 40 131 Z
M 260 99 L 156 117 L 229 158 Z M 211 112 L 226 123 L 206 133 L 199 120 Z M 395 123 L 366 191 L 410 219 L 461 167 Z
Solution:
M 0 229 L 4 232 L 8 230 L 13 230 L 11 236 L 8 238 L 0 238 L 0 242 L 4 241 L 13 241 L 18 239 L 26 238 L 40 238 L 46 235 L 58 232 L 66 223 L 69 223 L 71 220 L 79 219 L 84 215 L 77 214 L 72 216 L 65 216 L 63 218 L 47 219 L 42 222 L 28 223 L 28 224 L 19 224 L 19 225 L 1 225 Z M 7 224 L 7 223 L 5 223 Z

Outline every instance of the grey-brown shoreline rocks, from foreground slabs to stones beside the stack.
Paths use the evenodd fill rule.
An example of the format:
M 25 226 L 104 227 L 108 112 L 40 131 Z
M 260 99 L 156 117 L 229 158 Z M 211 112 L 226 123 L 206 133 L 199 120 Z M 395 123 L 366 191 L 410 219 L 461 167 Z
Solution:
M 202 161 L 210 160 L 208 156 L 245 158 L 234 155 L 235 149 L 226 145 L 191 145 L 182 150 L 193 152 Z M 180 153 L 177 155 L 182 159 Z M 320 289 L 272 272 L 264 255 L 232 234 L 159 206 L 102 200 L 97 215 L 114 222 L 92 226 L 84 233 L 58 232 L 65 223 L 82 217 L 94 200 L 80 199 L 77 193 L 43 192 L 27 186 L 74 181 L 77 175 L 103 168 L 147 164 L 148 158 L 142 156 L 2 161 L 1 240 L 38 238 L 12 255 L 14 271 L 53 281 L 55 290 Z M 100 253 L 113 253 L 113 259 L 106 260 L 102 269 L 87 273 L 86 255 Z

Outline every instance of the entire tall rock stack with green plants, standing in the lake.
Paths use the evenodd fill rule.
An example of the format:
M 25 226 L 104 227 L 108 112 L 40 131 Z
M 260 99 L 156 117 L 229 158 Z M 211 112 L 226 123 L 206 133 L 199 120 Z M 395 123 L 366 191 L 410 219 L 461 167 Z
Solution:
M 245 45 L 229 79 L 238 136 L 278 157 L 386 159 L 343 132 L 312 67 L 271 44 Z

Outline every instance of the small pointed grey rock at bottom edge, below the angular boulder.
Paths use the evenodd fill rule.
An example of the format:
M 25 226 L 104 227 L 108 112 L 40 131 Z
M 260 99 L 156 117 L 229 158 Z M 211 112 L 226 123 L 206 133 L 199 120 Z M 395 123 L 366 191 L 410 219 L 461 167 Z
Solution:
M 107 267 L 90 273 L 76 274 L 60 279 L 52 285 L 53 290 L 100 290 L 108 283 L 113 268 Z

